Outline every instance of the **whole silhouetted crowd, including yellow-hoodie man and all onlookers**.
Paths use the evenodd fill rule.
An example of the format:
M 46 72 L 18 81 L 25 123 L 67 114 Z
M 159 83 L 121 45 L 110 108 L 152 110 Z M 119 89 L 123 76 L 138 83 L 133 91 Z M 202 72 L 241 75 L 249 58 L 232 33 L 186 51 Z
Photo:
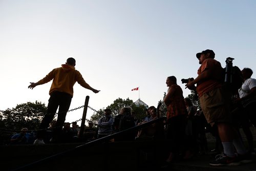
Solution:
M 168 145 L 165 162 L 169 164 L 180 159 L 190 159 L 196 154 L 207 154 L 205 127 L 210 125 L 210 130 L 215 130 L 214 135 L 219 138 L 223 150 L 221 155 L 209 162 L 210 165 L 231 166 L 251 162 L 251 154 L 255 152 L 250 127 L 256 125 L 256 79 L 251 78 L 252 70 L 244 68 L 241 71 L 244 82 L 237 92 L 231 92 L 228 87 L 230 84 L 223 81 L 223 68 L 215 59 L 214 51 L 207 49 L 197 53 L 196 57 L 200 64 L 198 76 L 195 79 L 188 79 L 185 87 L 198 95 L 201 109 L 193 105 L 191 99 L 183 97 L 177 78 L 169 76 L 166 79 L 168 90 L 163 100 L 167 108 L 165 121 L 118 135 L 110 142 L 166 140 Z M 33 89 L 53 80 L 47 114 L 42 119 L 36 137 L 27 133 L 27 128 L 23 128 L 20 133 L 11 137 L 11 144 L 76 142 L 78 137 L 93 141 L 158 118 L 155 106 L 146 109 L 146 116 L 141 122 L 136 121 L 135 114 L 129 106 L 124 106 L 115 118 L 111 109 L 105 109 L 104 116 L 98 120 L 97 126 L 89 122 L 89 126 L 80 133 L 76 122 L 72 122 L 72 127 L 71 123 L 65 122 L 73 97 L 73 86 L 78 82 L 94 93 L 98 93 L 99 90 L 93 89 L 84 81 L 79 71 L 75 70 L 75 64 L 74 58 L 68 58 L 66 64 L 53 69 L 45 78 L 36 83 L 31 82 L 28 88 Z M 58 118 L 52 121 L 58 108 Z M 242 141 L 240 127 L 246 135 L 248 149 Z M 52 131 L 50 137 L 47 136 L 46 129 Z

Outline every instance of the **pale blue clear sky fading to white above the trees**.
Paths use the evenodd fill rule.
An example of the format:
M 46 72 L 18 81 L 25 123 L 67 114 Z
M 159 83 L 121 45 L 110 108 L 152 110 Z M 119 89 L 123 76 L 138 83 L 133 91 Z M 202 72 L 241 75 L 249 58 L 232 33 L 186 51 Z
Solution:
M 16 104 L 48 103 L 51 83 L 29 90 L 68 57 L 95 89 L 74 86 L 70 109 L 84 104 L 99 110 L 117 98 L 157 105 L 166 77 L 196 77 L 196 53 L 212 49 L 225 67 L 255 70 L 256 1 L 5 1 L 0 0 L 0 110 Z M 254 76 L 254 75 L 253 75 Z M 88 116 L 93 111 L 88 109 Z M 82 110 L 67 121 L 82 117 Z

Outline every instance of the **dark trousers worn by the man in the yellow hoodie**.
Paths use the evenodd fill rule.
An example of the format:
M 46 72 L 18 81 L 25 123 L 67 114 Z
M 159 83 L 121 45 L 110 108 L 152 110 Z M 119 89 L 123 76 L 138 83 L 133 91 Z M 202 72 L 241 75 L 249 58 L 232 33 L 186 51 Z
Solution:
M 53 130 L 53 136 L 60 134 L 62 126 L 66 120 L 66 115 L 71 104 L 72 96 L 63 92 L 53 92 L 48 100 L 47 114 L 42 119 L 39 129 L 47 129 L 51 121 L 53 120 L 57 109 L 58 118 L 56 127 Z M 45 131 L 38 132 L 37 138 L 44 138 Z

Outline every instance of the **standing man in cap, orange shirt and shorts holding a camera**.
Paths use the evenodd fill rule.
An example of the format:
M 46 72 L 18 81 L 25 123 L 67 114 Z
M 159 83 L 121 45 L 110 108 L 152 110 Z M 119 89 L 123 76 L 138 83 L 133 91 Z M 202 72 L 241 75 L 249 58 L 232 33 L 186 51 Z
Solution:
M 239 134 L 231 123 L 230 96 L 229 91 L 225 90 L 223 86 L 221 63 L 214 59 L 215 53 L 209 49 L 197 53 L 196 56 L 201 65 L 198 69 L 198 77 L 189 80 L 186 88 L 197 90 L 205 118 L 211 126 L 217 126 L 224 148 L 224 154 L 219 155 L 209 164 L 212 166 L 231 166 L 240 165 L 241 162 L 249 162 L 250 156 L 246 154 Z M 234 147 L 238 154 L 235 153 Z

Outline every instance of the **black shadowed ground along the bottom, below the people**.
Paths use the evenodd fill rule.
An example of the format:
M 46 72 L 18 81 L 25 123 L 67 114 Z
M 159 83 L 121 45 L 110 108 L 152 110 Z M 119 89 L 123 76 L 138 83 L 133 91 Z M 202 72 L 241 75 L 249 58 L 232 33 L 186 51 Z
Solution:
M 252 127 L 254 138 L 255 127 Z M 245 145 L 245 136 L 242 134 Z M 112 142 L 93 146 L 84 143 L 0 146 L 0 171 L 5 170 L 243 170 L 256 171 L 253 162 L 240 166 L 213 167 L 209 161 L 216 153 L 215 138 L 207 134 L 209 152 L 187 161 L 164 165 L 166 144 L 162 141 Z M 256 146 L 256 140 L 254 139 Z

